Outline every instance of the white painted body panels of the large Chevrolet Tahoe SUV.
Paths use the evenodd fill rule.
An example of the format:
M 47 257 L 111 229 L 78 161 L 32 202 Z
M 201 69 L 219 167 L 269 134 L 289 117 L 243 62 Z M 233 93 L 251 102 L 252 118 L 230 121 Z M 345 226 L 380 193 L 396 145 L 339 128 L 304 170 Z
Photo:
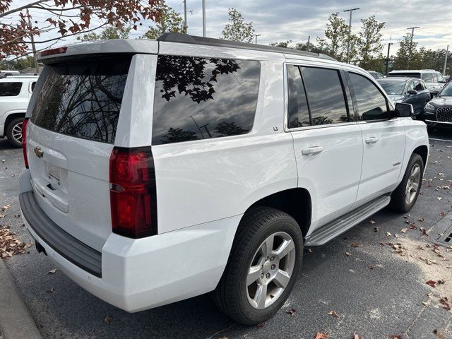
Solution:
M 59 168 L 66 182 L 54 192 L 56 196 L 49 192 L 44 192 L 44 198 L 35 196 L 57 225 L 102 253 L 102 278 L 70 263 L 45 244 L 28 222 L 25 225 L 59 269 L 126 311 L 214 290 L 242 215 L 261 198 L 286 189 L 306 189 L 312 205 L 310 234 L 352 208 L 393 191 L 412 151 L 428 146 L 425 124 L 410 118 L 287 130 L 285 64 L 352 70 L 376 83 L 357 67 L 275 52 L 160 42 L 160 54 L 261 61 L 256 117 L 248 134 L 153 146 L 158 234 L 143 239 L 121 237 L 112 233 L 109 156 L 114 146 L 151 144 L 157 42 L 81 44 L 69 47 L 67 54 L 114 52 L 115 43 L 119 52 L 137 54 L 129 69 L 114 145 L 64 136 L 29 122 L 30 169 L 20 176 L 20 192 L 45 190 L 45 181 L 52 178 L 44 177 L 44 169 Z M 42 78 L 46 72 L 44 68 Z M 28 115 L 42 82 L 40 78 Z M 369 136 L 381 142 L 367 145 L 364 140 Z M 321 154 L 302 155 L 303 148 L 315 145 L 323 147 Z M 50 154 L 45 163 L 33 154 L 37 146 Z M 396 162 L 400 165 L 393 166 Z

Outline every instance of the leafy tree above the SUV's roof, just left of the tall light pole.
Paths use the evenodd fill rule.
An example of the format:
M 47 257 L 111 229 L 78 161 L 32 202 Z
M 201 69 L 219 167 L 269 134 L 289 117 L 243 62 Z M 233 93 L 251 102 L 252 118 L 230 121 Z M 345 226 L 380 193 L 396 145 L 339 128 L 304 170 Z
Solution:
M 339 13 L 331 13 L 326 24 L 325 37 L 317 37 L 320 49 L 330 57 L 345 61 L 347 58 L 347 40 L 349 40 L 348 25 Z M 357 36 L 350 35 L 350 59 L 356 54 Z

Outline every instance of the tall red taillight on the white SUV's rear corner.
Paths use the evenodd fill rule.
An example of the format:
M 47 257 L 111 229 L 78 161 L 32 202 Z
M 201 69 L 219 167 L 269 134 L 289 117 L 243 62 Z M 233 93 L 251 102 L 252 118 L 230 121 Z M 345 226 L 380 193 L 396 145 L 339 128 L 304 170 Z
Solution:
M 117 148 L 110 156 L 113 232 L 131 238 L 157 234 L 155 170 L 150 148 Z

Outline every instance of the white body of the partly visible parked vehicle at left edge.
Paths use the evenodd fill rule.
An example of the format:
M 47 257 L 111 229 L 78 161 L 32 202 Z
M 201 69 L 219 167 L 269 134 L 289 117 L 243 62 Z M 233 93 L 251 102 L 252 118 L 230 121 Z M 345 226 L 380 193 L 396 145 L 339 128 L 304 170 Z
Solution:
M 6 119 L 11 114 L 21 114 L 25 117 L 25 112 L 27 112 L 28 102 L 30 101 L 32 93 L 32 83 L 37 81 L 37 76 L 30 76 L 30 78 L 14 78 L 7 77 L 1 78 L 0 83 L 22 83 L 22 88 L 20 88 L 19 95 L 3 97 L 0 96 L 0 136 L 4 136 L 6 133 Z

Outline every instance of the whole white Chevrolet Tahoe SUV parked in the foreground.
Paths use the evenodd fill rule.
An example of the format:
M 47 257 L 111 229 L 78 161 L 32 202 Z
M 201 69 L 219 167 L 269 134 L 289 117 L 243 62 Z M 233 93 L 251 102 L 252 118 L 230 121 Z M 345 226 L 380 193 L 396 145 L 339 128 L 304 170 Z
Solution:
M 290 295 L 304 246 L 419 194 L 426 126 L 355 66 L 179 34 L 40 61 L 25 225 L 60 270 L 126 311 L 212 292 L 232 319 L 261 323 Z

